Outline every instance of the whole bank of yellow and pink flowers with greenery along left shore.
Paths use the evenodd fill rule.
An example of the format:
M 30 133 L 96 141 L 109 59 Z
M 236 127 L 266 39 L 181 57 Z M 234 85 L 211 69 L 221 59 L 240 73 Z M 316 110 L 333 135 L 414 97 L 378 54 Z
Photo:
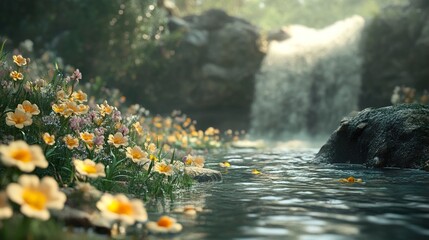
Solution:
M 14 55 L 13 62 L 13 71 L 0 71 L 5 96 L 0 99 L 0 219 L 20 209 L 28 218 L 48 220 L 49 210 L 62 209 L 66 202 L 61 187 L 81 186 L 112 193 L 95 199 L 112 228 L 147 222 L 151 232 L 179 232 L 182 226 L 172 217 L 148 222 L 143 201 L 125 194 L 166 196 L 190 186 L 186 167 L 205 164 L 191 148 L 219 147 L 219 130 L 197 130 L 196 122 L 178 111 L 151 116 L 132 105 L 121 112 L 122 98 L 89 97 L 79 86 L 78 69 L 62 71 L 56 64 L 48 74 L 51 80 L 44 80 L 30 71 L 35 68 L 29 59 Z M 196 211 L 186 207 L 189 215 Z

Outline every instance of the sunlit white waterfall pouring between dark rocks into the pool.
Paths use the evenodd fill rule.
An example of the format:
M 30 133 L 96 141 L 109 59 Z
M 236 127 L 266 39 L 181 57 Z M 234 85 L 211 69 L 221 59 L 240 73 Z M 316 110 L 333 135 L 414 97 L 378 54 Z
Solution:
M 270 43 L 256 76 L 253 137 L 325 137 L 358 110 L 360 16 L 321 30 L 293 25 L 290 38 Z

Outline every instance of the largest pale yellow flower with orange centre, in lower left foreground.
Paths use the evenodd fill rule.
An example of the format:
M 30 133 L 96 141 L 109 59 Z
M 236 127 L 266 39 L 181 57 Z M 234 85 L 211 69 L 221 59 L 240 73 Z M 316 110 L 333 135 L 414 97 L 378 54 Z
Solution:
M 11 183 L 6 189 L 10 200 L 21 205 L 21 212 L 33 218 L 47 220 L 48 208 L 62 209 L 66 195 L 59 191 L 52 177 L 46 176 L 40 181 L 35 175 L 21 175 L 18 183 Z

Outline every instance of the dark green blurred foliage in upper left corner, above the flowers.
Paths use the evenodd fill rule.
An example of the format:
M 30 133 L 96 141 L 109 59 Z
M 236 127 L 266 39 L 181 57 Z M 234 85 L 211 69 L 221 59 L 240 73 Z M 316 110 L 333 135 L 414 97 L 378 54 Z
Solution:
M 35 49 L 54 49 L 67 62 L 110 84 L 136 80 L 129 69 L 148 62 L 164 31 L 165 13 L 156 0 L 5 0 L 0 3 L 0 33 L 14 47 L 26 39 Z M 18 31 L 19 29 L 19 31 Z M 111 87 L 111 86 L 110 86 Z

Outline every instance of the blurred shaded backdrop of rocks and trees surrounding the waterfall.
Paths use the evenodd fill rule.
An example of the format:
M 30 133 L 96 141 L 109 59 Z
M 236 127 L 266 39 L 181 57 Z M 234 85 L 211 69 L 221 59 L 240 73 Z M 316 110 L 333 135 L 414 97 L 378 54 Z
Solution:
M 84 82 L 118 88 L 127 103 L 160 114 L 181 109 L 202 128 L 248 130 L 255 75 L 270 41 L 287 40 L 290 24 L 322 28 L 365 18 L 359 109 L 391 104 L 395 86 L 423 94 L 428 2 L 2 0 L 0 34 L 8 49 L 61 57 Z

